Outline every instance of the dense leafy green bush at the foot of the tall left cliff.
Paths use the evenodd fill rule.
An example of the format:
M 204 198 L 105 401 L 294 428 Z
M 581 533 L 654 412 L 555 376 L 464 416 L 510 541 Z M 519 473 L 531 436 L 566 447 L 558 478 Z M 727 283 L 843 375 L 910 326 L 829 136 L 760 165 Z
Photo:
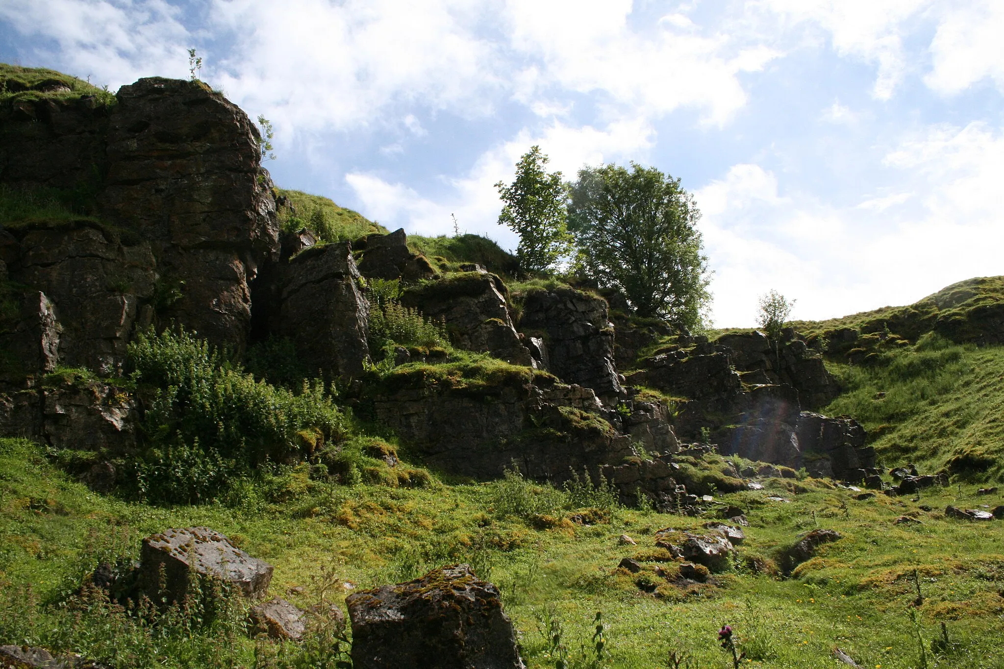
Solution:
M 265 462 L 344 436 L 344 418 L 322 382 L 296 394 L 255 381 L 184 330 L 141 333 L 130 344 L 134 378 L 149 389 L 147 447 L 136 466 L 141 496 L 192 503 Z M 312 434 L 305 443 L 302 434 Z

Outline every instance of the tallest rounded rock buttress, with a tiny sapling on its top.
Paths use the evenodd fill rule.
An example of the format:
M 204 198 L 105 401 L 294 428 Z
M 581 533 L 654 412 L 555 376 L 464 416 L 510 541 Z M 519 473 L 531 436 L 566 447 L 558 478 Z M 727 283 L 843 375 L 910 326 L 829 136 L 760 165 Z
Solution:
M 149 240 L 161 281 L 180 288 L 162 318 L 241 350 L 250 284 L 279 248 L 258 131 L 197 81 L 140 79 L 117 97 L 101 215 Z

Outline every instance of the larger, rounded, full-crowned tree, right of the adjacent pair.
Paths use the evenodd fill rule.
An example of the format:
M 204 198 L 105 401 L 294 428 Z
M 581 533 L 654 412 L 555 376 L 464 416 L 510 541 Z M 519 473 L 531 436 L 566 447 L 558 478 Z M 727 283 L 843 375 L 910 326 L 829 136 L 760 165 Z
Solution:
M 568 228 L 587 274 L 640 316 L 687 328 L 702 325 L 711 298 L 700 218 L 680 180 L 656 168 L 584 168 L 571 187 Z

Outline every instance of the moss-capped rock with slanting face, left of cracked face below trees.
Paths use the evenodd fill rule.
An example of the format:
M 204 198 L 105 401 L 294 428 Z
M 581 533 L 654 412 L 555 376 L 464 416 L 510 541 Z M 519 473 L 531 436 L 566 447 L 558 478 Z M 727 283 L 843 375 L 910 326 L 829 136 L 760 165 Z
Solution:
M 513 327 L 506 294 L 505 284 L 494 274 L 465 272 L 409 289 L 401 301 L 445 324 L 450 341 L 458 348 L 534 366 L 530 351 Z

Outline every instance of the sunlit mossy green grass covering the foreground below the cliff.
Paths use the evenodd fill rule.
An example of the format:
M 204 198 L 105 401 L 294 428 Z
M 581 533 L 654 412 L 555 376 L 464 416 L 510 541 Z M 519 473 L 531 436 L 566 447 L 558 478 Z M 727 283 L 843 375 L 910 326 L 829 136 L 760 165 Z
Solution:
M 602 611 L 610 651 L 606 663 L 613 667 L 662 666 L 671 645 L 691 653 L 700 666 L 723 666 L 715 634 L 723 622 L 734 625 L 740 638 L 773 646 L 771 659 L 749 666 L 827 666 L 837 645 L 867 667 L 917 667 L 908 617 L 915 594 L 907 578 L 915 568 L 926 597 L 922 633 L 930 639 L 936 624 L 945 621 L 962 646 L 950 663 L 940 664 L 1004 666 L 1004 641 L 989 633 L 1004 613 L 998 594 L 1004 587 L 1004 525 L 949 521 L 903 498 L 856 501 L 812 481 L 772 479 L 767 491 L 721 497 L 747 510 L 752 527 L 741 548 L 744 557 L 770 557 L 814 527 L 813 518 L 845 538 L 824 547 L 790 579 L 740 568 L 720 577 L 717 588 L 660 599 L 640 591 L 637 577 L 617 572 L 616 564 L 651 552 L 654 531 L 695 527 L 699 519 L 621 510 L 610 524 L 562 523 L 538 531 L 494 513 L 500 489 L 500 483 L 429 489 L 319 485 L 281 504 L 152 508 L 89 492 L 48 465 L 37 447 L 5 439 L 0 441 L 0 612 L 8 615 L 0 616 L 0 642 L 20 642 L 12 636 L 17 632 L 37 643 L 58 637 L 77 650 L 99 647 L 83 635 L 55 634 L 45 618 L 36 618 L 28 630 L 19 586 L 32 584 L 42 601 L 58 599 L 99 558 L 135 556 L 144 535 L 207 525 L 275 565 L 273 594 L 301 606 L 315 601 L 315 579 L 323 568 L 336 582 L 365 587 L 453 560 L 472 561 L 482 570 L 491 565 L 491 579 L 501 585 L 530 667 L 553 666 L 536 621 L 549 609 L 563 622 L 573 657 L 579 642 L 588 645 L 592 616 Z M 768 492 L 792 501 L 768 500 Z M 946 504 L 972 508 L 1000 501 L 973 493 L 972 486 L 963 486 L 961 497 L 955 487 L 938 489 L 924 493 L 922 503 L 940 510 Z M 923 525 L 893 526 L 903 514 L 917 516 Z M 639 547 L 618 547 L 621 533 Z M 292 586 L 305 591 L 287 595 Z M 237 640 L 220 657 L 247 666 L 252 646 Z M 204 661 L 161 660 L 163 666 Z

